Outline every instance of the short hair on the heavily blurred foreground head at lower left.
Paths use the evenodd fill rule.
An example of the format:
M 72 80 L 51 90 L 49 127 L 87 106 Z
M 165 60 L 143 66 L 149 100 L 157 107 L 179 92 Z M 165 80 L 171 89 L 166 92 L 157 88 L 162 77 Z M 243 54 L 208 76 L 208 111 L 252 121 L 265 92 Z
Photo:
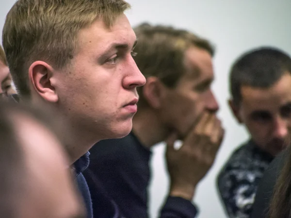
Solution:
M 13 114 L 19 114 L 32 118 L 46 126 L 56 137 L 64 142 L 59 136 L 65 134 L 60 131 L 61 127 L 54 113 L 42 108 L 35 108 L 29 104 L 20 104 L 12 101 L 0 102 L 0 215 L 5 218 L 19 216 L 19 205 L 25 201 L 27 183 L 29 183 L 22 141 L 17 136 Z M 54 117 L 54 119 L 51 119 Z M 19 121 L 20 122 L 20 121 Z M 37 134 L 32 132 L 31 134 Z

